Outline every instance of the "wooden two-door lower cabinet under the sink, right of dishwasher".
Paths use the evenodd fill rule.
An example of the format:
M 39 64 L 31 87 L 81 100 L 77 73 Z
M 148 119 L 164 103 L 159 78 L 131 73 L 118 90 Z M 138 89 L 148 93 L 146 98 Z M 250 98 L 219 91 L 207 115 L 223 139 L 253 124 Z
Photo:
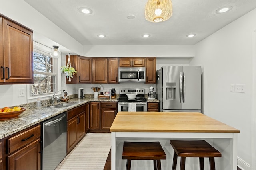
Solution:
M 69 153 L 86 133 L 85 104 L 67 111 L 67 153 Z

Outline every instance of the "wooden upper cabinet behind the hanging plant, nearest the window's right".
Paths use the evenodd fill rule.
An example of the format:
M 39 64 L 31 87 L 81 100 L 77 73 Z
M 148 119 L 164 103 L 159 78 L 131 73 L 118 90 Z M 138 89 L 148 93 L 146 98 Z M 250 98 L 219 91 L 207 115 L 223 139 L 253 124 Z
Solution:
M 68 55 L 66 55 L 66 63 Z M 92 82 L 92 58 L 78 55 L 70 55 L 71 66 L 77 71 L 77 74 L 71 78 L 71 82 L 66 79 L 66 84 L 91 83 Z

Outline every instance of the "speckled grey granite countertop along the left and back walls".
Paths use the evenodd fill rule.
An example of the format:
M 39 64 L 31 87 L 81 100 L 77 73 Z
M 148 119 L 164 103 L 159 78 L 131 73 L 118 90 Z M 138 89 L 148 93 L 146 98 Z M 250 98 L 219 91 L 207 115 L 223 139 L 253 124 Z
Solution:
M 60 113 L 68 111 L 74 107 L 80 106 L 87 102 L 117 102 L 117 98 L 115 99 L 107 99 L 107 98 L 84 98 L 78 99 L 73 98 L 68 101 L 68 103 L 74 102 L 75 104 L 68 107 L 62 108 L 50 108 L 50 107 L 42 107 L 38 108 L 27 108 L 22 114 L 20 114 L 19 118 L 12 120 L 4 120 L 0 121 L 0 139 L 12 135 L 18 131 L 36 125 L 42 121 L 45 121 L 51 117 L 54 117 Z M 159 100 L 148 100 L 148 102 L 159 102 Z M 63 102 L 62 102 L 63 103 Z M 65 103 L 65 102 L 64 102 Z

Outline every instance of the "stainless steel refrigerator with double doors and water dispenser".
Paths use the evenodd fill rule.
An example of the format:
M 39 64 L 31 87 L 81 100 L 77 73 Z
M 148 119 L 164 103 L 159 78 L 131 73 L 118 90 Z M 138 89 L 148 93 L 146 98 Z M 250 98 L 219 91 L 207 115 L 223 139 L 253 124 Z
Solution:
M 160 111 L 201 113 L 201 66 L 162 66 L 156 71 Z

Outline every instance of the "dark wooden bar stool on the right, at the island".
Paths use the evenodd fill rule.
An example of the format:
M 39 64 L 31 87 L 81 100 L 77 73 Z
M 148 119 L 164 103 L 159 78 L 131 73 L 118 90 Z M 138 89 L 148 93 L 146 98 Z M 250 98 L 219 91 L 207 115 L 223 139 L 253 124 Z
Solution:
M 221 157 L 221 153 L 206 141 L 170 140 L 174 149 L 172 170 L 176 170 L 177 158 L 180 156 L 180 170 L 185 170 L 186 157 L 199 157 L 200 170 L 204 170 L 204 157 L 210 160 L 210 170 L 215 170 L 214 157 Z

